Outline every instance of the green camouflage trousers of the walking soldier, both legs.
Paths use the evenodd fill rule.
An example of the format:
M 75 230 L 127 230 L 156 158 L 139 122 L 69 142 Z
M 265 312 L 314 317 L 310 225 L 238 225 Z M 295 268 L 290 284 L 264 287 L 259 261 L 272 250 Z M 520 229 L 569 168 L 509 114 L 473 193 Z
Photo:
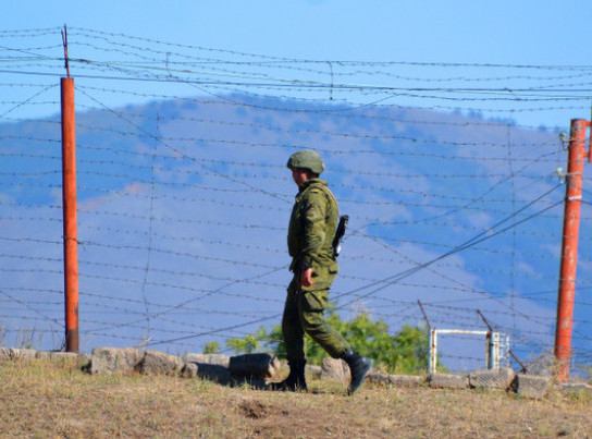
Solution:
M 333 358 L 340 357 L 349 350 L 349 343 L 329 325 L 323 316 L 323 310 L 328 306 L 328 296 L 329 289 L 316 291 L 299 289 L 296 277 L 289 283 L 282 319 L 288 362 L 306 359 L 305 333 L 308 333 Z

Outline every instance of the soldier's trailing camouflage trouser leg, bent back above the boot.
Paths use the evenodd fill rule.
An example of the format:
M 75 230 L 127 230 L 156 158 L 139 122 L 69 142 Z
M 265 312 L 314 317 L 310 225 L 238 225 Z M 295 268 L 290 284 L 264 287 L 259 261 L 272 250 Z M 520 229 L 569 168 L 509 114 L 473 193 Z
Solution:
M 328 305 L 329 290 L 304 291 L 299 294 L 298 310 L 304 330 L 319 343 L 329 355 L 338 358 L 350 349 L 345 338 L 323 316 Z

